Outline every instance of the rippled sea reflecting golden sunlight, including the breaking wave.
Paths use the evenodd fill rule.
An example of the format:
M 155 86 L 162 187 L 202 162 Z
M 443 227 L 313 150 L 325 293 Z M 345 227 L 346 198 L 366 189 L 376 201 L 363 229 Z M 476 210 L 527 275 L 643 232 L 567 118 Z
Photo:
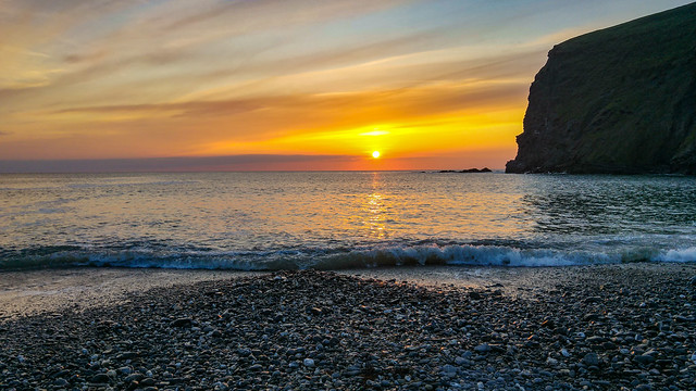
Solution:
M 0 268 L 696 261 L 696 179 L 506 174 L 0 175 Z

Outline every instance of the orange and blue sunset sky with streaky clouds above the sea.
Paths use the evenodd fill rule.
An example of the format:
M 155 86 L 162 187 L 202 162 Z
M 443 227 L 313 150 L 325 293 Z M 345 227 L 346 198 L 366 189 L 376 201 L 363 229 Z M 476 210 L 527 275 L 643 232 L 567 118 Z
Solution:
M 0 0 L 0 172 L 502 168 L 554 45 L 689 2 Z

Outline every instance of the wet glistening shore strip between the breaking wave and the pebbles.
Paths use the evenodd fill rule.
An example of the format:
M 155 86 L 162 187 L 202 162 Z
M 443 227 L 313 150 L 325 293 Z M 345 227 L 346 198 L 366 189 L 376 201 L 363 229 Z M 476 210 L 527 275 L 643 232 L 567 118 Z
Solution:
M 588 266 L 399 266 L 333 270 L 362 279 L 409 282 L 426 288 L 496 288 L 508 295 L 543 291 L 550 280 L 576 273 L 620 270 L 684 270 L 696 275 L 693 263 L 630 263 Z M 194 285 L 271 275 L 278 272 L 174 269 L 130 267 L 65 267 L 0 272 L 0 321 L 72 308 L 108 306 L 154 288 Z

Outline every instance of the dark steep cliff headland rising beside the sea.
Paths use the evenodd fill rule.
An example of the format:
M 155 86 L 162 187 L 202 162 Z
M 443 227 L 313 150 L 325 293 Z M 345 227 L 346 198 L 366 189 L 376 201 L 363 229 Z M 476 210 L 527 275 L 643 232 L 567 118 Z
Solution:
M 507 173 L 696 174 L 696 3 L 560 43 Z

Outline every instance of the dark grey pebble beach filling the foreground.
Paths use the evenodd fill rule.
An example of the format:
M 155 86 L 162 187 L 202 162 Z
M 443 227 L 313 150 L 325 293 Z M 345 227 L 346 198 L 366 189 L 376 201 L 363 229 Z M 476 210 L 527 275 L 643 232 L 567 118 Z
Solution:
M 0 321 L 0 389 L 695 389 L 695 275 L 555 268 L 526 294 L 311 270 L 154 288 Z

